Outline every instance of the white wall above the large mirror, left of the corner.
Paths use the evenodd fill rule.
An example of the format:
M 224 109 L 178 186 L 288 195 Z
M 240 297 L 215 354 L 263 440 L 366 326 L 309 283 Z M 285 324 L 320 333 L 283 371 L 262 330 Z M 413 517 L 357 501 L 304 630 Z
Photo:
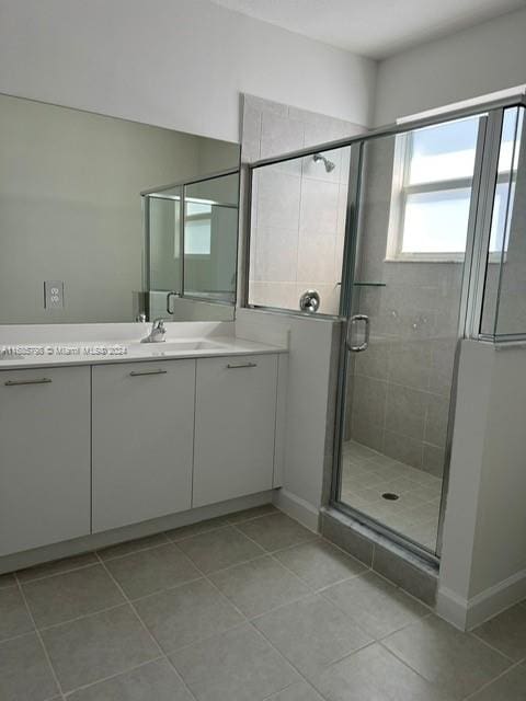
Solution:
M 207 0 L 0 0 L 0 92 L 239 140 L 239 93 L 368 124 L 376 64 Z

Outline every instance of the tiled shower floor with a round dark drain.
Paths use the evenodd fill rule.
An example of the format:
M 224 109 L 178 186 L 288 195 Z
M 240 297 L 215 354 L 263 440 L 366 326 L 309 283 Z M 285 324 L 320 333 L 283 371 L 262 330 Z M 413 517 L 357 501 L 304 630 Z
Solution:
M 387 501 L 382 494 L 397 494 Z M 343 445 L 341 501 L 416 541 L 436 549 L 442 480 L 354 440 Z

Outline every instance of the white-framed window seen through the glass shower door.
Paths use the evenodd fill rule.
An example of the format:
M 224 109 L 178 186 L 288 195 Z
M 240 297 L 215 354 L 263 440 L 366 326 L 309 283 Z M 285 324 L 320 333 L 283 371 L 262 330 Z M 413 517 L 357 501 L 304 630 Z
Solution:
M 479 118 L 397 137 L 388 260 L 461 258 Z

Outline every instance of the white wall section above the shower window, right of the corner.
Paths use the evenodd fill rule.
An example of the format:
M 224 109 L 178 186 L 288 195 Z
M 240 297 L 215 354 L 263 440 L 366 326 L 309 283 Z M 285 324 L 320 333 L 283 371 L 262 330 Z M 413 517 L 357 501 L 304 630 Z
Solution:
M 525 32 L 519 10 L 381 61 L 374 123 L 525 83 Z

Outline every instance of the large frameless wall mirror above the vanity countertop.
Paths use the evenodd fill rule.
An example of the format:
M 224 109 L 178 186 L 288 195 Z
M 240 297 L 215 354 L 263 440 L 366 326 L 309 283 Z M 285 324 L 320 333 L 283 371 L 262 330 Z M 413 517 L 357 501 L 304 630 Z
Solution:
M 0 324 L 232 319 L 238 169 L 238 143 L 0 95 Z

